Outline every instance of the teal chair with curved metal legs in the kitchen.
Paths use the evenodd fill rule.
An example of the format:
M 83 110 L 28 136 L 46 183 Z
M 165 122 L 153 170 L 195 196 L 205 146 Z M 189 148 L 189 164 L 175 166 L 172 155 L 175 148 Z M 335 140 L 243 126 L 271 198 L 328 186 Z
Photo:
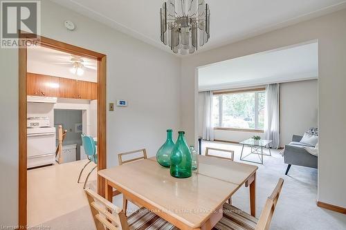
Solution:
M 93 169 L 91 169 L 91 171 L 86 176 L 84 186 L 83 186 L 83 189 L 85 189 L 85 185 L 86 185 L 86 182 L 88 182 L 88 180 L 89 180 L 90 174 L 93 172 L 94 169 L 96 169 L 98 167 L 98 154 L 96 153 L 96 145 L 95 145 L 95 142 L 93 140 L 93 137 L 85 135 L 84 133 L 81 135 L 81 137 L 82 137 L 82 144 L 83 144 L 84 152 L 88 156 L 89 162 L 87 162 L 84 165 L 82 171 L 80 171 L 80 176 L 78 177 L 78 183 L 80 183 L 80 177 L 81 177 L 85 167 L 90 162 L 94 162 L 96 164 L 96 166 L 94 166 Z

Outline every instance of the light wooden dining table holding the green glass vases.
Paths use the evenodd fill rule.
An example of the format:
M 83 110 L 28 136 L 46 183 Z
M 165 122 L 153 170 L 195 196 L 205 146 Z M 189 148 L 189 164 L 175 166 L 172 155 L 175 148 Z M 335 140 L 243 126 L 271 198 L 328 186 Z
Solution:
M 199 155 L 192 177 L 173 178 L 152 157 L 98 171 L 105 179 L 106 198 L 113 189 L 179 229 L 212 229 L 222 218 L 223 204 L 241 186 L 250 187 L 250 212 L 255 216 L 257 166 Z

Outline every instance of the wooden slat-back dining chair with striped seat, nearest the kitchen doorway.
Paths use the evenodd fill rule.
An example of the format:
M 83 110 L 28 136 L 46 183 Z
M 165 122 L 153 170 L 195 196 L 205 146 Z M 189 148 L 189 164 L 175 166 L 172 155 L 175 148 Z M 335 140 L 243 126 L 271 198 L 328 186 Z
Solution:
M 125 212 L 91 189 L 84 190 L 97 230 L 136 230 L 136 229 L 170 229 L 179 230 L 173 224 L 160 218 L 148 209 L 138 209 L 125 216 Z

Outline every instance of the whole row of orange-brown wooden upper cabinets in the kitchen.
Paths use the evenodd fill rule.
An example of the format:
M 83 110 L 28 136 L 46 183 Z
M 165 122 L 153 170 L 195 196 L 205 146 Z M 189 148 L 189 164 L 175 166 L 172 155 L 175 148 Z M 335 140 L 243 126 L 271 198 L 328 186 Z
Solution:
M 97 99 L 98 84 L 64 77 L 27 74 L 27 94 L 42 97 Z

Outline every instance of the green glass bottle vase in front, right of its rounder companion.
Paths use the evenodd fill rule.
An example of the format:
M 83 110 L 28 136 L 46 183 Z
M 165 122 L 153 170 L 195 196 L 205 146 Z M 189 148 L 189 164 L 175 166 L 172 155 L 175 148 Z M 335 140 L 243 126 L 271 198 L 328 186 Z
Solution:
M 192 157 L 185 140 L 185 132 L 180 131 L 170 158 L 170 173 L 174 178 L 190 178 Z

